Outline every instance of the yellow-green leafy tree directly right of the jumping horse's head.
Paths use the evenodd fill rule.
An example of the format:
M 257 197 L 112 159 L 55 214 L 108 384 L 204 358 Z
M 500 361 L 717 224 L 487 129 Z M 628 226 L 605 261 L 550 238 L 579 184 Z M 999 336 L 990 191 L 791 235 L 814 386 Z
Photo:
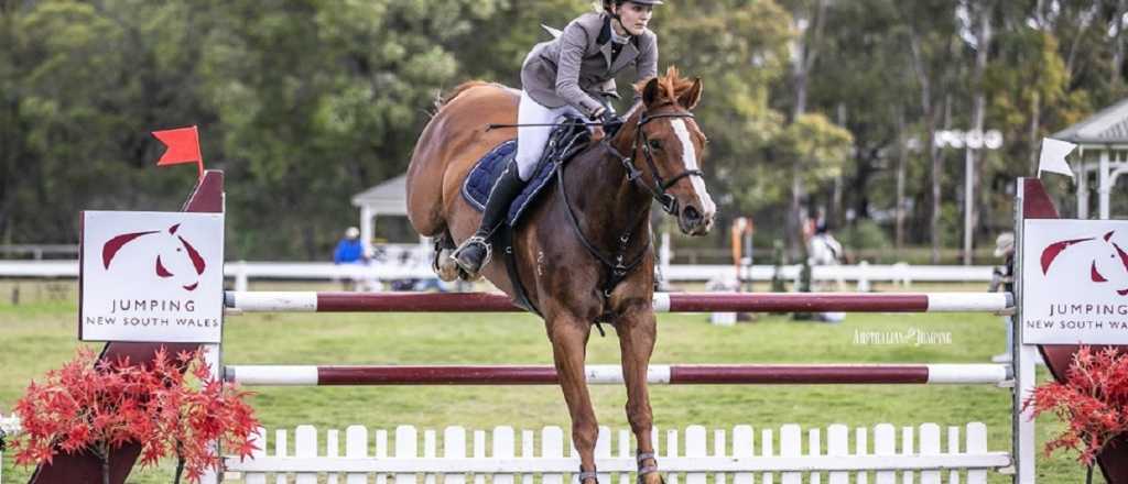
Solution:
M 787 12 L 770 0 L 679 0 L 660 9 L 660 70 L 675 64 L 704 81 L 696 114 L 710 138 L 705 172 L 719 210 L 737 216 L 785 201 L 765 173 L 784 125 L 769 99 L 788 63 Z

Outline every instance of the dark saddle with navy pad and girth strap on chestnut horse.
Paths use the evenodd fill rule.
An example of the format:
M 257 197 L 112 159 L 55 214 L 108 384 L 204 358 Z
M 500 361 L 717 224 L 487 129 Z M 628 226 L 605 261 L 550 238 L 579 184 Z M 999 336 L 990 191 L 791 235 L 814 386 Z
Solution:
M 564 122 L 555 127 L 548 136 L 548 144 L 545 146 L 540 161 L 537 162 L 532 178 L 521 190 L 521 194 L 513 199 L 509 207 L 503 226 L 497 227 L 493 234 L 491 243 L 494 249 L 502 249 L 505 254 L 505 271 L 513 285 L 513 303 L 519 307 L 538 316 L 544 316 L 540 310 L 529 301 L 525 285 L 517 269 L 517 251 L 513 250 L 513 231 L 519 226 L 521 216 L 534 201 L 536 201 L 544 188 L 549 185 L 553 177 L 564 164 L 583 151 L 591 141 L 591 133 L 588 131 L 583 119 L 574 116 L 565 116 Z M 490 190 L 494 181 L 505 170 L 505 167 L 513 163 L 517 156 L 517 140 L 505 141 L 475 163 L 470 173 L 462 182 L 462 198 L 466 199 L 478 212 L 485 210 L 486 200 L 490 198 Z

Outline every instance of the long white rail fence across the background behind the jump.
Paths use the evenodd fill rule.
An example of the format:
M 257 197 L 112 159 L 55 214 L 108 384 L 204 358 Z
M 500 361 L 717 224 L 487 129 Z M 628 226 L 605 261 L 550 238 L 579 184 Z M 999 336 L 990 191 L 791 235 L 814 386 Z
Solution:
M 334 265 L 329 262 L 248 262 L 236 261 L 224 265 L 224 275 L 235 280 L 235 290 L 247 290 L 252 280 L 376 280 L 429 279 L 434 277 L 430 265 Z M 775 275 L 773 266 L 754 266 L 752 280 L 770 280 Z M 783 266 L 781 276 L 786 280 L 799 277 L 799 266 Z M 705 281 L 735 279 L 732 266 L 670 266 L 662 276 L 669 281 Z M 77 278 L 78 261 L 74 260 L 0 260 L 0 278 Z M 987 283 L 992 279 L 988 266 L 816 266 L 812 278 L 818 281 L 852 281 L 860 287 L 872 283 L 893 283 L 902 287 L 913 283 Z

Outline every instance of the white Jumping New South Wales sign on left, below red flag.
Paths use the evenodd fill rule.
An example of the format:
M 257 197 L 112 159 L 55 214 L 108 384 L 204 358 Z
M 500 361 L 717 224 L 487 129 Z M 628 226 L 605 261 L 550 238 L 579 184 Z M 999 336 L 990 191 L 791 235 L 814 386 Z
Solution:
M 223 214 L 82 213 L 79 339 L 218 343 Z

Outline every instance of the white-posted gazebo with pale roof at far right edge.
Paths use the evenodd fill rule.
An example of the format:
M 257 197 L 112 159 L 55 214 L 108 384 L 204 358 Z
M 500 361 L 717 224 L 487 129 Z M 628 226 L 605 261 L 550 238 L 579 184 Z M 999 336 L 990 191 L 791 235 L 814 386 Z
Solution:
M 1081 161 L 1073 163 L 1077 174 L 1077 218 L 1089 218 L 1089 195 L 1093 182 L 1096 183 L 1098 215 L 1109 218 L 1117 178 L 1128 173 L 1128 99 L 1050 137 L 1077 144 Z

